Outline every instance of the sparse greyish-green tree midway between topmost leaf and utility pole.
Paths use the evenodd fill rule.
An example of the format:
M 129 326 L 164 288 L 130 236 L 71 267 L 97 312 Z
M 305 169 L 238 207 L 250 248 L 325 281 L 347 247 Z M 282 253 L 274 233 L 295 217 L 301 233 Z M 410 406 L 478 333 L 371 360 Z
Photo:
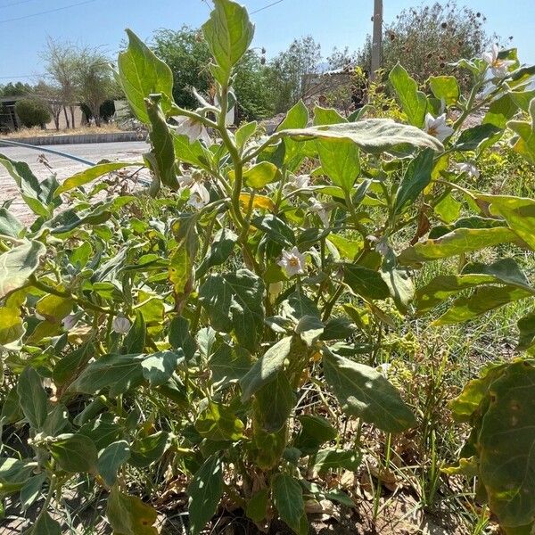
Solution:
M 320 70 L 321 46 L 314 37 L 294 39 L 284 52 L 269 62 L 269 83 L 277 113 L 287 111 L 310 89 L 309 76 Z

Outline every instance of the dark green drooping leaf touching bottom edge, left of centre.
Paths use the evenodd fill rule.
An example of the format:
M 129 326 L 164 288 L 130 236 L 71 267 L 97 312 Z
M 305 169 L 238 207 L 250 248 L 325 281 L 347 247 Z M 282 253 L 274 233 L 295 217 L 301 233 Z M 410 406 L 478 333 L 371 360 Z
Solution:
M 216 513 L 223 496 L 223 465 L 221 459 L 210 457 L 195 473 L 187 488 L 192 535 L 199 535 Z

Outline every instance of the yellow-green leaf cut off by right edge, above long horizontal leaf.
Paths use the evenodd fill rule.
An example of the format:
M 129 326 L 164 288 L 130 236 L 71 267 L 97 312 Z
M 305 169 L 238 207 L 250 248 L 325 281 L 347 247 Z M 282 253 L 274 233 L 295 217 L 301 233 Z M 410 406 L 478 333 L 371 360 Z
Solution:
M 490 211 L 504 218 L 507 225 L 535 251 L 535 201 L 506 195 L 478 195 L 490 203 Z

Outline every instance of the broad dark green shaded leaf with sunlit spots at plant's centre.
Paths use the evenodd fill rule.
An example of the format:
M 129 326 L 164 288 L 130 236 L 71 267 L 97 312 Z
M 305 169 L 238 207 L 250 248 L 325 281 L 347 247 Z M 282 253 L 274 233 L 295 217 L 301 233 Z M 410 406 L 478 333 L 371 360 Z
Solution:
M 223 333 L 234 332 L 243 347 L 256 350 L 264 327 L 264 284 L 248 269 L 210 275 L 199 290 L 211 325 Z

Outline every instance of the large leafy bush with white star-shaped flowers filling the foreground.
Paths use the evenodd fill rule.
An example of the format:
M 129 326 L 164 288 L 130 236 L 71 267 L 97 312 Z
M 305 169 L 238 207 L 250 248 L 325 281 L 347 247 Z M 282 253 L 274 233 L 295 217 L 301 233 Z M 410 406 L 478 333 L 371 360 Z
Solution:
M 40 502 L 31 533 L 61 533 L 53 508 L 88 479 L 125 535 L 157 532 L 153 492 L 169 481 L 187 487 L 193 534 L 220 503 L 259 525 L 279 516 L 304 534 L 305 500 L 354 504 L 325 475 L 357 469 L 363 428 L 388 433 L 388 467 L 391 435 L 419 423 L 376 369 L 383 351 L 418 347 L 408 335 L 386 339 L 392 317 L 424 313 L 474 284 L 532 295 L 510 260 L 468 263 L 472 251 L 532 236 L 502 211 L 506 221 L 490 218 L 496 198 L 465 189 L 453 165 L 495 144 L 523 109 L 532 69 L 514 51 L 503 53 L 507 63 L 463 62 L 473 73 L 466 99 L 455 78 L 432 79 L 424 95 L 396 67 L 406 123 L 317 107 L 309 125 L 297 103 L 259 137 L 256 122 L 226 128 L 235 66 L 253 37 L 247 12 L 216 0 L 202 30 L 216 104 L 194 92 L 194 111 L 173 101 L 171 70 L 128 31 L 117 79 L 149 128 L 143 163 L 101 163 L 60 185 L 0 156 L 36 216 L 25 226 L 0 211 L 0 424 L 26 433 L 29 446 L 4 445 L 0 493 L 23 508 Z M 478 100 L 490 68 L 499 69 L 496 86 Z M 516 107 L 501 107 L 514 93 Z M 427 115 L 439 115 L 442 101 L 457 110 L 453 126 Z M 461 130 L 489 103 L 491 121 Z M 527 124 L 509 123 L 515 149 L 531 157 Z M 128 190 L 131 168 L 143 165 L 149 194 Z M 91 185 L 110 173 L 119 174 Z M 514 202 L 529 212 L 528 200 Z M 486 211 L 458 219 L 461 210 Z M 417 243 L 431 220 L 440 225 Z M 411 304 L 413 269 L 459 255 L 462 274 L 435 279 Z M 468 318 L 459 308 L 446 314 Z M 437 387 L 430 403 L 439 395 Z M 439 463 L 434 431 L 426 433 L 431 503 Z M 147 468 L 151 479 L 139 476 Z

